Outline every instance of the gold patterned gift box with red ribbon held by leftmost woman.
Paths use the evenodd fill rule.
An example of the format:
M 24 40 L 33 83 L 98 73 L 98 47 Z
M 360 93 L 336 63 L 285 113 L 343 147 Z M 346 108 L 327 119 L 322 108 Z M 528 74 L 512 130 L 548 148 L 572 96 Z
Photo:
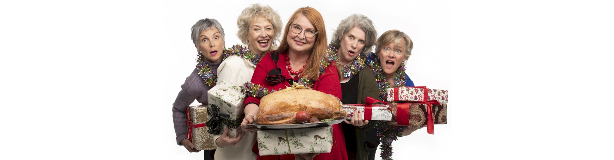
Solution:
M 207 106 L 190 106 L 188 114 L 188 140 L 192 141 L 196 150 L 215 150 L 213 134 L 209 134 L 204 123 L 207 122 Z

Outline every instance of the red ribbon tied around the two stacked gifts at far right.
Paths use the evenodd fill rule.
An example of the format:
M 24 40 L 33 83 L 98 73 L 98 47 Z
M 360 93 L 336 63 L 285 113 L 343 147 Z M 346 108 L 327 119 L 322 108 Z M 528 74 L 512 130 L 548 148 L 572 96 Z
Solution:
M 433 122 L 433 111 L 432 111 L 432 107 L 433 105 L 441 105 L 439 103 L 439 101 L 437 100 L 430 100 L 427 101 L 427 98 L 429 96 L 429 89 L 427 89 L 424 86 L 418 86 L 418 87 L 413 87 L 413 88 L 420 88 L 424 90 L 424 96 L 422 97 L 422 101 L 419 102 L 406 102 L 406 103 L 398 103 L 397 104 L 397 123 L 398 125 L 405 125 L 408 126 L 410 125 L 409 123 L 409 118 L 410 118 L 410 104 L 426 104 L 426 111 L 427 111 L 427 122 L 426 122 L 426 130 L 427 133 L 429 134 L 435 134 L 435 126 Z M 394 94 L 398 95 L 398 87 L 394 89 Z M 398 96 L 394 96 L 394 100 L 398 101 Z M 399 114 L 399 113 L 407 113 L 407 114 Z

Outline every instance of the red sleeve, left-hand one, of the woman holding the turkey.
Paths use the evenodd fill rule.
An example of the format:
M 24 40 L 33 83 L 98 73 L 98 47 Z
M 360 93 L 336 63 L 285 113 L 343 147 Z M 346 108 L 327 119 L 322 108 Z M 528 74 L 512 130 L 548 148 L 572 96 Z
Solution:
M 262 57 L 262 60 L 258 62 L 256 69 L 254 70 L 254 75 L 252 75 L 252 83 L 260 84 L 262 87 L 268 88 L 268 83 L 266 83 L 266 74 L 268 71 L 273 69 L 276 64 L 274 64 L 273 60 L 271 60 L 271 54 L 266 54 L 266 56 Z M 255 98 L 254 96 L 247 96 L 243 105 L 247 105 L 249 103 L 255 103 L 260 105 L 260 99 Z

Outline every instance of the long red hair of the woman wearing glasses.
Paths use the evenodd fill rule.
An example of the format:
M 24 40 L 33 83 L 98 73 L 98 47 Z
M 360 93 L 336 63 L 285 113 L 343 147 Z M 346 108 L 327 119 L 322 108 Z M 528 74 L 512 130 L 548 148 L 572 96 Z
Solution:
M 288 32 L 290 32 L 290 23 L 296 20 L 300 15 L 305 15 L 317 31 L 315 37 L 316 43 L 313 45 L 313 48 L 311 48 L 311 56 L 309 56 L 309 61 L 305 66 L 305 70 L 303 70 L 303 75 L 305 75 L 305 78 L 317 80 L 319 77 L 320 62 L 326 53 L 328 44 L 326 39 L 326 29 L 324 27 L 324 19 L 322 18 L 320 12 L 317 12 L 316 9 L 312 7 L 303 7 L 298 9 L 292 14 L 292 16 L 290 16 L 290 20 L 286 24 L 286 29 L 284 29 L 284 37 L 281 40 L 281 45 L 279 46 L 279 49 L 275 51 L 275 53 L 280 54 L 290 49 L 287 41 Z

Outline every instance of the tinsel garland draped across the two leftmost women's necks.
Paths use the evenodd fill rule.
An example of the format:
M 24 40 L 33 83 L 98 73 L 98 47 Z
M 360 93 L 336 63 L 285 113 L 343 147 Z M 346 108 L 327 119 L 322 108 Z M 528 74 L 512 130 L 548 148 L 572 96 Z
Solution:
M 234 45 L 231 48 L 224 47 L 224 51 L 222 52 L 222 61 L 225 60 L 228 56 L 238 56 L 243 59 L 249 60 L 254 65 L 258 65 L 260 62 L 260 56 L 256 53 L 253 53 L 249 48 L 243 47 L 243 45 Z M 198 69 L 198 75 L 203 77 L 204 84 L 209 85 L 209 87 L 216 86 L 217 83 L 217 75 L 213 72 L 211 68 L 209 68 L 208 62 L 204 59 L 203 53 L 198 53 L 198 59 L 196 59 L 196 69 Z

